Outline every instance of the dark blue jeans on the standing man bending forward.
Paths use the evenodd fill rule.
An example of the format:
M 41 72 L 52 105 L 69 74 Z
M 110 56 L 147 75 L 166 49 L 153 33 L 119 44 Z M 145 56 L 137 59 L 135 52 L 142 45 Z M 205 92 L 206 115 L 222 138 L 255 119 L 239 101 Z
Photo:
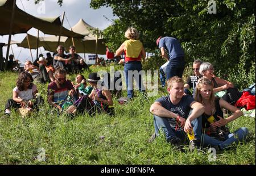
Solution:
M 182 78 L 184 65 L 184 57 L 177 57 L 170 60 L 166 68 L 166 79 L 168 80 L 174 76 Z

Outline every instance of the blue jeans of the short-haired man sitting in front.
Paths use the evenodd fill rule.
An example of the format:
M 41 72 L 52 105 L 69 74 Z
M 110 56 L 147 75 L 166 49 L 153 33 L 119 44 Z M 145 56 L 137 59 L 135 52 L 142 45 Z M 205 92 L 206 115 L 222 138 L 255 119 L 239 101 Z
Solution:
M 191 111 L 192 112 L 192 111 Z M 191 112 L 189 114 L 191 114 Z M 201 140 L 202 134 L 202 121 L 201 116 L 192 120 L 193 124 L 193 132 L 195 138 Z M 174 137 L 179 137 L 181 141 L 185 143 L 187 139 L 187 134 L 184 131 L 175 131 L 168 122 L 168 118 L 160 118 L 159 116 L 154 115 L 154 126 L 155 126 L 155 134 L 159 136 L 159 130 L 162 129 L 164 134 L 166 135 L 166 140 L 170 141 Z

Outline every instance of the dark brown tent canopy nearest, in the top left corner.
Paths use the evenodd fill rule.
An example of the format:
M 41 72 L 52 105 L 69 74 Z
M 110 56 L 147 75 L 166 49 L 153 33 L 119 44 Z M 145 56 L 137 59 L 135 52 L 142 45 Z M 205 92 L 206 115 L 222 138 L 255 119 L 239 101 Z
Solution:
M 0 35 L 9 34 L 11 13 L 13 11 L 13 1 L 0 0 Z M 32 27 L 51 35 L 61 35 L 68 37 L 82 38 L 83 35 L 69 31 L 67 28 L 62 28 L 60 33 L 61 21 L 58 17 L 40 17 L 37 18 L 26 12 L 20 10 L 15 5 L 15 15 L 13 22 L 12 34 L 15 33 L 26 33 Z

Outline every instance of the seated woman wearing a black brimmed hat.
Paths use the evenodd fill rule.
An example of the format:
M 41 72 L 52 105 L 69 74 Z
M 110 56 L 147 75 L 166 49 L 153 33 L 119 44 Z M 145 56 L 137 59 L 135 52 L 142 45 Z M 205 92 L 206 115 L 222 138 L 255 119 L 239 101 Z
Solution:
M 97 73 L 90 73 L 87 79 L 89 85 L 93 87 L 90 95 L 83 95 L 71 107 L 68 113 L 88 112 L 89 115 L 95 112 L 109 112 L 109 106 L 113 106 L 112 95 L 106 87 L 101 86 L 100 76 Z

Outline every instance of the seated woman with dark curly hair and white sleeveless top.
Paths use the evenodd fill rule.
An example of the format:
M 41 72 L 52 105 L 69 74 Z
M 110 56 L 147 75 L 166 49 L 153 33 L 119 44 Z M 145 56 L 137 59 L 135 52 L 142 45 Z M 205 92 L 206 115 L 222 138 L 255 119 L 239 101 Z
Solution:
M 38 110 L 39 103 L 43 103 L 40 96 L 35 97 L 38 90 L 36 85 L 32 83 L 34 79 L 28 72 L 22 72 L 16 81 L 16 87 L 13 89 L 13 99 L 7 100 L 5 106 L 5 114 L 11 114 L 11 108 L 17 109 L 20 107 L 35 108 Z M 36 101 L 32 100 L 35 99 Z

